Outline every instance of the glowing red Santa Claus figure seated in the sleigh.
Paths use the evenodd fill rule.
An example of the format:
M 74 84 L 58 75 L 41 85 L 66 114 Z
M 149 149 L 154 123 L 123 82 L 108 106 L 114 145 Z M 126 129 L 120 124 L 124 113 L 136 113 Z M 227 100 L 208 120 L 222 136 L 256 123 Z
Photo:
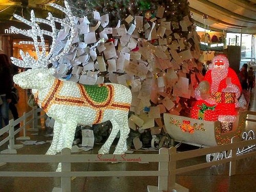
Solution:
M 191 117 L 208 121 L 234 122 L 236 102 L 242 88 L 239 78 L 225 55 L 217 55 L 209 71 L 195 90 L 198 100 L 191 110 Z

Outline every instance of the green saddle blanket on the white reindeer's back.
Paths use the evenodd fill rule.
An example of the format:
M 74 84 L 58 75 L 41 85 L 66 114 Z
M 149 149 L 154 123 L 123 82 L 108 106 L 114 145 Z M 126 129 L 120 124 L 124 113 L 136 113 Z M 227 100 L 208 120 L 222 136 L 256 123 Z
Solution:
M 94 102 L 104 102 L 108 99 L 109 88 L 107 86 L 98 86 L 98 85 L 83 85 L 86 90 L 87 95 Z

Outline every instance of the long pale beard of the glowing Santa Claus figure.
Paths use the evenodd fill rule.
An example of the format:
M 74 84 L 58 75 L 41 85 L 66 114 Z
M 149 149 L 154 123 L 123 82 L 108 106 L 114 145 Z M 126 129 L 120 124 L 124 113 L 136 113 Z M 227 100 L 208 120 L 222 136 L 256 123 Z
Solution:
M 217 92 L 219 89 L 219 85 L 221 80 L 227 77 L 228 68 L 213 68 L 211 70 L 211 92 Z

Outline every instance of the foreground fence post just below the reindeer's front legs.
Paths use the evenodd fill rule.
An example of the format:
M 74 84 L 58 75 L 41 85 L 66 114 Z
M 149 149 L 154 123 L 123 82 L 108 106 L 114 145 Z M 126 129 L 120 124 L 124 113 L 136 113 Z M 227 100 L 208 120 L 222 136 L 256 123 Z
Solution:
M 71 150 L 69 148 L 63 148 L 61 155 L 71 155 Z M 62 158 L 64 159 L 64 158 Z M 71 162 L 63 163 L 61 162 L 61 172 L 71 172 Z M 61 176 L 61 192 L 71 191 L 71 177 Z

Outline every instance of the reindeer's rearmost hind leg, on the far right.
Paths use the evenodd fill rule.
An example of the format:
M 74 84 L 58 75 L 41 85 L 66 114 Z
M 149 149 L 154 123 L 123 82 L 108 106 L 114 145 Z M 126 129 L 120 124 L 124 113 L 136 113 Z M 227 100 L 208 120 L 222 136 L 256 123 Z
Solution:
M 120 138 L 118 140 L 118 143 L 116 145 L 116 150 L 114 151 L 114 154 L 124 154 L 127 151 L 127 144 L 126 139 L 128 138 L 130 127 L 128 124 L 128 114 L 127 112 L 122 112 L 123 115 L 122 118 L 120 118 Z

